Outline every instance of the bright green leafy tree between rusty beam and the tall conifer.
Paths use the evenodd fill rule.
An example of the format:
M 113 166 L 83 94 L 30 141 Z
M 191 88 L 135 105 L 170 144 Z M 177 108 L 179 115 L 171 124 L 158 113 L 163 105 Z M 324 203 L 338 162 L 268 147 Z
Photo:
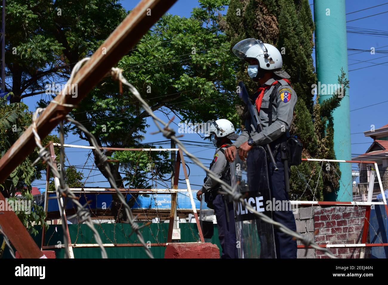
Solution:
M 203 1 L 189 18 L 163 16 L 120 60 L 118 67 L 123 69 L 123 75 L 138 88 L 154 111 L 168 108 L 182 116 L 182 119 L 192 122 L 207 121 L 215 116 L 224 116 L 234 122 L 239 120 L 233 107 L 236 83 L 230 65 L 236 59 L 230 54 L 229 43 L 226 36 L 220 33 L 217 22 L 218 10 L 223 9 L 227 2 Z M 66 36 L 65 40 L 70 42 L 71 38 Z M 98 45 L 96 41 L 95 47 L 90 47 L 90 53 Z M 63 56 L 67 57 L 65 52 Z M 79 54 L 78 59 L 82 56 Z M 128 90 L 124 88 L 123 91 L 120 94 L 118 83 L 109 77 L 104 78 L 71 112 L 96 137 L 100 145 L 133 147 L 144 139 L 149 114 Z M 42 101 L 41 104 L 47 102 Z M 81 131 L 71 125 L 66 127 L 67 131 L 77 134 L 90 144 Z M 107 151 L 106 154 L 112 157 L 118 155 L 113 151 Z M 95 159 L 95 164 L 107 178 L 98 157 Z M 157 161 L 156 157 L 148 162 L 154 161 Z M 123 163 L 111 164 L 117 187 L 125 186 L 120 173 L 120 168 L 125 167 Z M 116 208 L 116 204 L 121 208 L 117 197 L 114 199 L 113 208 Z M 118 220 L 122 219 L 125 217 L 119 217 Z

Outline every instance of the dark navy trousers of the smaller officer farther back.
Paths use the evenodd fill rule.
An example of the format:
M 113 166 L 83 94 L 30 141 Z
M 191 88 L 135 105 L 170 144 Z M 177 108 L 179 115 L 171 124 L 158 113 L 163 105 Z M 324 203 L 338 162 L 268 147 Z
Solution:
M 233 203 L 228 204 L 229 223 L 225 212 L 222 195 L 218 194 L 213 200 L 214 212 L 217 218 L 218 238 L 222 247 L 221 258 L 238 258 L 236 224 L 234 221 Z

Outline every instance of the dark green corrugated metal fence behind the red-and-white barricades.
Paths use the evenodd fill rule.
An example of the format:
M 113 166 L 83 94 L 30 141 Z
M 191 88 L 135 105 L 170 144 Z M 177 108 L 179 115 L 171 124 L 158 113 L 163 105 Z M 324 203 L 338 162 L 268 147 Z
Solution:
M 139 225 L 143 225 L 139 223 Z M 36 244 L 40 247 L 42 231 L 40 226 L 36 227 L 39 233 L 33 237 Z M 131 227 L 128 224 L 100 224 L 95 225 L 102 242 L 104 244 L 127 244 L 139 243 L 136 234 L 132 233 Z M 180 223 L 180 242 L 196 242 L 199 240 L 197 226 L 194 223 Z M 71 242 L 76 244 L 95 244 L 93 232 L 87 225 L 69 225 L 69 233 Z M 142 235 L 145 242 L 165 243 L 167 242 L 168 223 L 152 223 L 145 228 L 142 228 Z M 0 244 L 3 238 L 0 235 Z M 214 225 L 214 235 L 211 239 L 212 244 L 216 244 L 221 252 L 220 242 L 218 240 L 217 225 Z M 63 244 L 62 226 L 49 225 L 45 236 L 46 245 Z M 151 252 L 155 258 L 163 258 L 166 247 L 152 246 Z M 54 249 L 57 258 L 63 258 L 64 249 Z M 74 248 L 75 258 L 101 258 L 100 249 L 97 248 Z M 148 258 L 143 247 L 107 247 L 106 252 L 109 258 Z M 9 250 L 6 249 L 3 258 L 9 258 Z

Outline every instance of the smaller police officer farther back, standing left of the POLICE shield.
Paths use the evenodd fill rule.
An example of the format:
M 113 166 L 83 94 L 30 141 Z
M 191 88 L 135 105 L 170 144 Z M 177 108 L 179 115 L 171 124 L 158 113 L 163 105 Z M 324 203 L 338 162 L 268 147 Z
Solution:
M 206 126 L 208 128 L 206 134 L 210 136 L 211 142 L 217 146 L 210 170 L 218 178 L 231 185 L 230 166 L 225 159 L 224 152 L 232 143 L 231 140 L 236 140 L 238 135 L 234 132 L 233 124 L 226 119 L 208 121 Z M 238 258 L 233 202 L 230 197 L 218 193 L 219 190 L 222 190 L 219 183 L 206 176 L 201 190 L 197 192 L 197 199 L 201 200 L 201 195 L 204 193 L 204 200 L 208 203 L 208 207 L 214 209 L 217 218 L 218 238 L 222 247 L 221 258 Z

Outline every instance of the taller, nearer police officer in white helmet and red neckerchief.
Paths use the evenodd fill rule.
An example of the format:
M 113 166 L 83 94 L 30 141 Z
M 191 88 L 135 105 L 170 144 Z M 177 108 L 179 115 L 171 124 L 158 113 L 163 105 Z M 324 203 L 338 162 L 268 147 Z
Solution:
M 281 69 L 282 56 L 273 45 L 263 43 L 253 38 L 245 39 L 233 47 L 234 54 L 249 63 L 248 74 L 259 83 L 259 88 L 253 96 L 253 102 L 258 110 L 263 124 L 263 131 L 256 133 L 249 116 L 245 116 L 245 128 L 239 138 L 228 149 L 225 157 L 234 161 L 236 149 L 239 157 L 244 160 L 248 152 L 259 145 L 270 144 L 279 171 L 274 171 L 272 162 L 268 161 L 268 179 L 272 199 L 288 201 L 286 185 L 289 172 L 285 171 L 286 162 L 282 160 L 282 146 L 288 140 L 291 121 L 297 96 L 290 85 L 288 73 Z M 285 173 L 286 172 L 286 173 Z M 285 179 L 286 174 L 286 179 Z M 296 231 L 295 219 L 291 209 L 273 211 L 275 221 Z M 296 240 L 291 236 L 274 229 L 277 258 L 296 258 Z

